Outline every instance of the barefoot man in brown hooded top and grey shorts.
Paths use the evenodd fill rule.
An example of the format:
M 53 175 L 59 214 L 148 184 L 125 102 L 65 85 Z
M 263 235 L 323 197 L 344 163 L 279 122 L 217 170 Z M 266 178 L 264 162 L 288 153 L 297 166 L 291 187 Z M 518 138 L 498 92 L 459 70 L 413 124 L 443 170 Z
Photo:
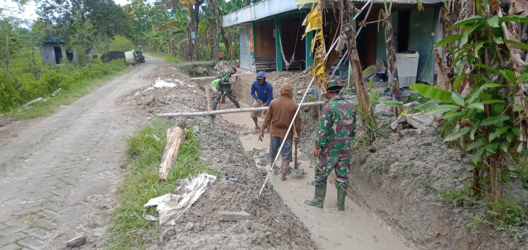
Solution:
M 294 138 L 294 129 L 291 129 L 290 133 L 286 136 L 286 131 L 290 126 L 291 120 L 294 119 L 295 112 L 297 111 L 297 103 L 293 101 L 293 87 L 289 83 L 285 83 L 280 88 L 280 97 L 273 99 L 269 104 L 268 111 L 266 113 L 266 118 L 264 123 L 260 128 L 259 141 L 262 142 L 264 138 L 264 129 L 270 128 L 271 138 L 269 140 L 269 156 L 271 157 L 271 164 L 275 164 L 275 156 L 279 150 L 282 140 L 286 138 L 286 142 L 280 151 L 282 156 L 281 169 L 282 176 L 281 180 L 286 181 L 286 173 L 292 162 L 291 157 L 291 145 L 293 144 Z M 271 126 L 270 126 L 271 124 Z M 300 116 L 297 114 L 295 117 L 295 132 L 297 136 L 295 137 L 295 142 L 300 141 L 300 131 L 301 131 L 301 120 Z

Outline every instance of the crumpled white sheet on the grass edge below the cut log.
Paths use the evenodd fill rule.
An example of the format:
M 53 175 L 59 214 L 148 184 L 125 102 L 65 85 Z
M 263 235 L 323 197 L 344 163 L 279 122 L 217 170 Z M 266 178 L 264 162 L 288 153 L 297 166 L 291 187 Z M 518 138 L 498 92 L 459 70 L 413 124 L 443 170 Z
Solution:
M 175 193 L 180 193 L 179 195 L 169 193 L 152 198 L 143 207 L 157 206 L 159 224 L 175 225 L 176 219 L 200 198 L 209 183 L 214 182 L 215 179 L 215 176 L 208 174 L 199 174 L 191 181 L 180 179 L 175 191 Z

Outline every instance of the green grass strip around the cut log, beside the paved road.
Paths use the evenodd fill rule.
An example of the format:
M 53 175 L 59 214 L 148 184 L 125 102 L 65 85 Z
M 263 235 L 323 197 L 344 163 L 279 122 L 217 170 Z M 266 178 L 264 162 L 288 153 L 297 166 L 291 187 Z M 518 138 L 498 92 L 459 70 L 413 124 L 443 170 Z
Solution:
M 200 162 L 200 141 L 188 133 L 167 182 L 158 183 L 158 166 L 166 144 L 167 121 L 154 120 L 136 135 L 128 138 L 126 153 L 131 162 L 119 188 L 119 202 L 111 215 L 108 249 L 144 249 L 160 244 L 158 223 L 147 222 L 145 215 L 157 217 L 152 208 L 143 208 L 148 199 L 172 193 L 180 178 L 200 173 L 218 175 Z

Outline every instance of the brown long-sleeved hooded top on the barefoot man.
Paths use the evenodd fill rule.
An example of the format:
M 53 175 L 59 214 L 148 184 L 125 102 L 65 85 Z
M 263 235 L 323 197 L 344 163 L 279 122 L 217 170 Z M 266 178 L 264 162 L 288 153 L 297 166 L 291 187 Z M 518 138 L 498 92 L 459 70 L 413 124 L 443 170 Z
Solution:
M 263 127 L 270 127 L 270 134 L 284 138 L 291 119 L 294 118 L 295 111 L 297 111 L 297 103 L 293 101 L 293 87 L 289 83 L 285 83 L 280 88 L 280 97 L 273 99 L 269 104 L 266 118 L 264 119 Z M 295 117 L 295 131 L 300 135 L 301 119 L 299 114 Z M 294 131 L 291 129 L 287 138 L 293 138 Z

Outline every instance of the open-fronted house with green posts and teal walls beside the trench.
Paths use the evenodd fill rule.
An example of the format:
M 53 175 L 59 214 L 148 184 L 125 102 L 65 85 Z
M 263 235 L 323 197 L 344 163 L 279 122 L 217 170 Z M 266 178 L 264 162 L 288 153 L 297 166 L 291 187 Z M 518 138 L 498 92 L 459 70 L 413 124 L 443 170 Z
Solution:
M 313 64 L 310 50 L 313 34 L 301 40 L 305 27 L 302 25 L 313 4 L 310 0 L 263 0 L 223 16 L 224 27 L 240 29 L 240 67 L 252 71 L 300 71 Z M 353 1 L 356 8 L 365 10 L 356 17 L 356 29 L 363 22 L 379 19 L 383 0 Z M 441 38 L 442 20 L 439 19 L 441 0 L 422 0 L 423 11 L 416 1 L 394 0 L 391 21 L 396 53 L 414 53 L 418 58 L 416 81 L 435 81 L 436 66 L 433 64 L 434 45 Z M 331 3 L 326 4 L 331 8 Z M 339 34 L 339 23 L 332 9 L 324 12 L 323 33 L 327 49 Z M 363 68 L 382 59 L 386 65 L 385 32 L 378 23 L 365 25 L 356 39 Z M 378 31 L 379 29 L 379 31 Z M 313 32 L 312 32 L 313 33 Z M 442 53 L 442 52 L 440 52 Z M 340 61 L 337 51 L 332 51 L 326 61 L 326 69 Z M 346 60 L 344 60 L 346 61 Z M 401 65 L 399 67 L 405 67 Z

